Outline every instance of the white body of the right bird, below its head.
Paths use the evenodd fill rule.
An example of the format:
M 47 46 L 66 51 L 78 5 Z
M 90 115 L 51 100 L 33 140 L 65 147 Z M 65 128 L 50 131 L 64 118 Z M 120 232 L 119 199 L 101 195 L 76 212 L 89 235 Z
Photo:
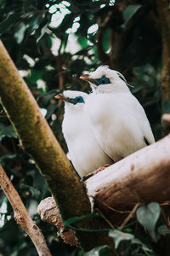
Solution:
M 115 161 L 155 142 L 144 108 L 130 93 L 89 96 L 85 111 L 98 143 Z

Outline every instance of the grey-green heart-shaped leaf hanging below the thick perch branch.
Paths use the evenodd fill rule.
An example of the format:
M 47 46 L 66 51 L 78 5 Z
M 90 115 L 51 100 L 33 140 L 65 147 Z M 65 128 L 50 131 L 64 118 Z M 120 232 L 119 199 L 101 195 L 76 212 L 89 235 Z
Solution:
M 144 229 L 150 233 L 153 241 L 157 241 L 158 237 L 156 236 L 156 223 L 160 217 L 161 208 L 158 203 L 151 202 L 147 206 L 141 206 L 138 208 L 136 215 L 139 221 L 139 224 L 144 226 Z

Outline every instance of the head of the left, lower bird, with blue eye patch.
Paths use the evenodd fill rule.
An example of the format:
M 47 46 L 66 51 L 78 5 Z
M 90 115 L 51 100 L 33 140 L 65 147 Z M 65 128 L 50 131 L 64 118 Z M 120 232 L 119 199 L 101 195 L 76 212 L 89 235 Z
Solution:
M 54 98 L 64 101 L 68 108 L 75 109 L 83 108 L 87 97 L 87 93 L 78 90 L 64 90 L 63 93 L 54 96 Z

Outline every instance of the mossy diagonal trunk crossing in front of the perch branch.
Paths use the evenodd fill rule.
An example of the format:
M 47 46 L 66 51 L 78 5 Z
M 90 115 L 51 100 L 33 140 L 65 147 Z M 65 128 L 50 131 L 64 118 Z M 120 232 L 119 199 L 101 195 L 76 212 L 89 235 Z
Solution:
M 14 125 L 20 143 L 35 160 L 59 206 L 62 218 L 80 217 L 91 212 L 88 196 L 77 172 L 66 158 L 47 121 L 42 117 L 37 102 L 25 81 L 0 42 L 0 96 L 8 119 Z M 105 226 L 101 218 L 88 218 L 74 224 L 78 229 L 99 229 Z M 105 232 L 76 231 L 85 251 L 110 244 Z

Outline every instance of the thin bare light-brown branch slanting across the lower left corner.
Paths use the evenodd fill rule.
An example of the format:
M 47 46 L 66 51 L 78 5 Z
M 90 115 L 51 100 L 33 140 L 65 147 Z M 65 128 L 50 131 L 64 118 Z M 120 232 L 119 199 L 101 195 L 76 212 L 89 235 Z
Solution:
M 20 195 L 14 189 L 13 184 L 8 179 L 6 173 L 3 171 L 3 167 L 0 165 L 0 186 L 2 187 L 5 195 L 8 197 L 8 201 L 14 210 L 14 219 L 30 236 L 31 241 L 37 248 L 38 255 L 50 256 L 48 246 L 45 238 L 42 235 L 41 230 L 37 227 L 37 224 L 31 219 L 29 213 L 26 211 L 26 207 L 20 199 Z

